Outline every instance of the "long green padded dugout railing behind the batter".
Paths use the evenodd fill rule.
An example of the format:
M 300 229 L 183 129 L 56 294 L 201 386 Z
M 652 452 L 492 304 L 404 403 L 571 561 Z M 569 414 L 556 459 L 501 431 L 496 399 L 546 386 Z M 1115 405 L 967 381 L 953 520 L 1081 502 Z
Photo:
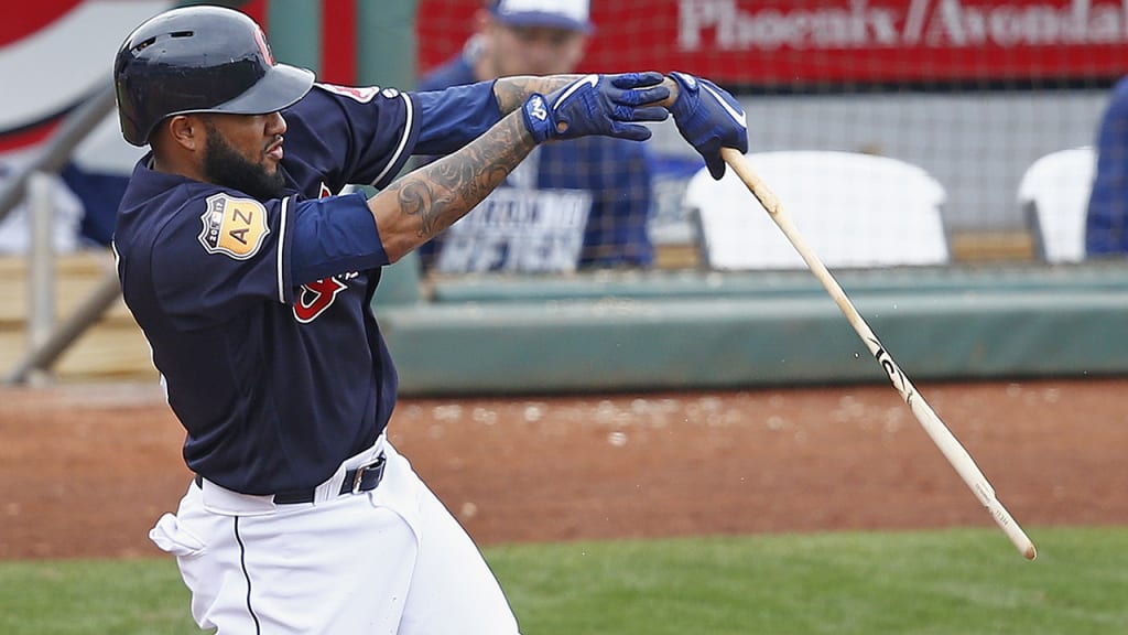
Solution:
M 917 382 L 1128 373 L 1123 270 L 838 279 Z M 885 381 L 830 297 L 809 282 L 706 273 L 559 280 L 555 292 L 546 280 L 451 282 L 433 302 L 378 306 L 377 314 L 405 394 Z

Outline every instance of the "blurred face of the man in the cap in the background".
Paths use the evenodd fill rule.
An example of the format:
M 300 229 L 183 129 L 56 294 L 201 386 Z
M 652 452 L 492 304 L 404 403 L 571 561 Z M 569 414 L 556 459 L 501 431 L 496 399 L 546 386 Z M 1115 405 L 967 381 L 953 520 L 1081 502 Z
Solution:
M 514 27 L 493 23 L 486 54 L 497 77 L 572 72 L 583 56 L 587 36 L 579 31 Z

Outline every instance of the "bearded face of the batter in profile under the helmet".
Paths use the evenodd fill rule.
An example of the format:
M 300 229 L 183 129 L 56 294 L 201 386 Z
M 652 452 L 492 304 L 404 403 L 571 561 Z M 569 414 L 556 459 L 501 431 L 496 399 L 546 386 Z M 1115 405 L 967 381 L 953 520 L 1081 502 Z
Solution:
M 279 169 L 285 120 L 279 113 L 213 114 L 204 120 L 204 175 L 212 183 L 241 190 L 259 200 L 282 195 Z

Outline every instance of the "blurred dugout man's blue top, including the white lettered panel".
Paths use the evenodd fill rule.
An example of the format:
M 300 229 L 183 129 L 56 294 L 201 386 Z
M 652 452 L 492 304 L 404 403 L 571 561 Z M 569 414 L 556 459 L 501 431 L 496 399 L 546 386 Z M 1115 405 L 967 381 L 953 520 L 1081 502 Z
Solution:
M 468 46 L 421 89 L 474 81 Z M 653 164 L 645 143 L 583 137 L 534 149 L 473 212 L 421 249 L 443 272 L 649 266 Z

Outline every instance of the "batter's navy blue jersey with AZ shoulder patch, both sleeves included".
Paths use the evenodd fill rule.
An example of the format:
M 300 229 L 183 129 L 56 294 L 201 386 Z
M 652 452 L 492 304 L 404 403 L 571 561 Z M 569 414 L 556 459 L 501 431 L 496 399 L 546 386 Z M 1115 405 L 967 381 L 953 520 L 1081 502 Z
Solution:
M 406 94 L 316 85 L 283 111 L 287 194 L 134 168 L 114 246 L 124 298 L 187 430 L 187 466 L 245 494 L 314 487 L 369 447 L 396 402 L 371 312 L 388 263 L 364 197 L 413 153 L 500 118 L 492 85 Z

